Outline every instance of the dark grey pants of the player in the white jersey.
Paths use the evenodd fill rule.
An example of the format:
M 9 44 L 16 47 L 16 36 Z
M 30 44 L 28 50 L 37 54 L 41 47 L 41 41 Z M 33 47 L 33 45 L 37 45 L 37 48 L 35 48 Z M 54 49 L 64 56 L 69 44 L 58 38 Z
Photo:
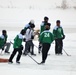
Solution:
M 31 52 L 32 54 L 34 54 L 34 44 L 33 44 L 32 40 L 27 41 L 26 44 L 25 44 L 24 53 L 26 54 L 27 52 Z

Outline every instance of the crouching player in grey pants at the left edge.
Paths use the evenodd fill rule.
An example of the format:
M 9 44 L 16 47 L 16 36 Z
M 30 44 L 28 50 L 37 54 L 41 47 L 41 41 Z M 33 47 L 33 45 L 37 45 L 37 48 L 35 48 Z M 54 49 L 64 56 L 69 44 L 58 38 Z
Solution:
M 2 49 L 2 51 L 4 50 L 5 46 L 5 53 L 10 53 L 9 52 L 9 48 L 10 48 L 10 43 L 7 42 L 7 31 L 6 30 L 2 30 L 2 35 L 0 36 L 0 49 Z

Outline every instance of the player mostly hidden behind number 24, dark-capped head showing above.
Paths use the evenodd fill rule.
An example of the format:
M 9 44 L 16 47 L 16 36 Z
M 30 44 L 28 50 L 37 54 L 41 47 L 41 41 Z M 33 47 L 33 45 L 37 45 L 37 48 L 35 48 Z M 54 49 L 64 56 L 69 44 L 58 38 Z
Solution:
M 40 26 L 40 34 L 45 30 L 45 25 L 48 23 L 49 18 L 47 16 L 44 17 L 44 21 L 42 21 L 41 26 Z M 42 45 L 39 43 L 38 47 L 38 53 L 40 53 L 42 49 Z

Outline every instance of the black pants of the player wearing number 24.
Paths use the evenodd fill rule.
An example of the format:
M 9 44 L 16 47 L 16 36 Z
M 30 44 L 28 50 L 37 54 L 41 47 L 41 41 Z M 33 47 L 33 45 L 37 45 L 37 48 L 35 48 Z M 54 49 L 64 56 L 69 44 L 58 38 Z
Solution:
M 43 43 L 42 44 L 42 61 L 45 62 L 47 55 L 48 55 L 48 51 L 50 49 L 50 44 L 49 43 Z

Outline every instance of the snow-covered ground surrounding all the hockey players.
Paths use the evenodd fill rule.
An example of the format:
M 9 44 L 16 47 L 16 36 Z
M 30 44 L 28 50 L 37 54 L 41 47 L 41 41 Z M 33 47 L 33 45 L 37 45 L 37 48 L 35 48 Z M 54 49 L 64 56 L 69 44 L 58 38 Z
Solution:
M 8 2 L 9 1 L 9 2 Z M 19 8 L 7 8 L 7 6 L 11 6 L 11 0 L 0 0 L 0 35 L 3 29 L 8 31 L 8 42 L 13 41 L 14 37 L 20 32 L 22 28 L 24 28 L 25 24 L 27 24 L 31 19 L 35 20 L 36 29 L 40 28 L 41 21 L 43 21 L 44 16 L 49 17 L 49 22 L 51 22 L 51 31 L 55 26 L 55 22 L 57 19 L 61 20 L 61 25 L 64 28 L 66 39 L 64 40 L 64 50 L 70 54 L 71 56 L 67 56 L 64 51 L 62 56 L 56 56 L 54 54 L 54 46 L 52 44 L 50 48 L 50 56 L 48 56 L 45 65 L 37 65 L 30 57 L 22 56 L 21 64 L 17 65 L 8 64 L 8 63 L 0 63 L 0 74 L 1 75 L 76 75 L 76 10 L 75 9 L 56 9 L 55 1 L 56 0 L 46 0 L 45 3 L 40 3 L 42 0 L 33 0 L 33 2 L 37 1 L 37 9 L 27 9 L 23 8 L 25 3 L 24 0 L 12 0 L 13 6 Z M 18 3 L 19 1 L 19 3 Z M 48 4 L 48 2 L 49 4 Z M 59 2 L 58 2 L 59 1 Z M 61 4 L 61 1 L 56 1 L 57 6 Z M 68 0 L 68 3 L 74 5 L 75 0 Z M 33 5 L 35 4 L 33 3 Z M 43 2 L 43 1 L 42 1 Z M 22 7 L 20 7 L 20 3 Z M 29 1 L 26 3 L 28 5 Z M 53 9 L 42 9 L 47 3 L 47 8 L 50 6 Z M 50 5 L 50 3 L 53 3 Z M 34 5 L 34 7 L 36 6 Z M 43 4 L 43 6 L 41 5 Z M 5 5 L 5 6 L 4 6 Z M 31 5 L 31 2 L 28 6 Z M 27 7 L 28 7 L 27 6 Z M 12 6 L 11 6 L 12 7 Z M 34 44 L 38 46 L 38 41 L 34 41 Z M 24 45 L 24 43 L 23 43 Z M 12 52 L 13 47 L 11 45 L 10 52 Z M 41 62 L 41 54 L 38 54 L 38 49 L 34 48 L 36 57 L 33 56 L 38 62 Z M 10 55 L 3 54 L 0 55 L 0 58 L 9 58 Z

